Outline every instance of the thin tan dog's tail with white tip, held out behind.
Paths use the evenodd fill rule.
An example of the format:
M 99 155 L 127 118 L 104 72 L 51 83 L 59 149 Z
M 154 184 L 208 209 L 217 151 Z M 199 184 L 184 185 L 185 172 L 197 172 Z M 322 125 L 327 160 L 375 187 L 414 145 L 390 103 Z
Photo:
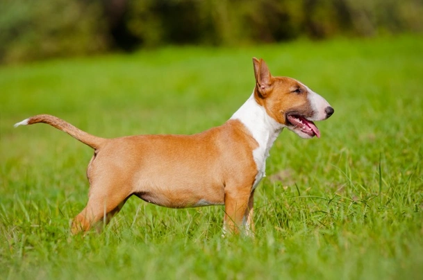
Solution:
M 74 127 L 70 123 L 59 119 L 57 116 L 51 116 L 48 114 L 40 114 L 36 116 L 31 116 L 29 119 L 24 119 L 19 123 L 15 124 L 15 128 L 19 125 L 32 125 L 34 123 L 47 123 L 58 130 L 62 130 L 74 137 L 75 139 L 81 141 L 82 143 L 90 146 L 91 148 L 97 150 L 100 148 L 101 144 L 106 141 L 105 138 L 97 137 L 92 134 L 89 134 L 85 131 L 80 130 L 79 128 Z

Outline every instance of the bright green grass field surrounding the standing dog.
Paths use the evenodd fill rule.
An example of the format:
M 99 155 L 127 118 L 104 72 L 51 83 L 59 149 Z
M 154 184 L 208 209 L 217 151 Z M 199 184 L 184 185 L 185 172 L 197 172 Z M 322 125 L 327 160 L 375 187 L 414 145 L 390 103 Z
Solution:
M 0 68 L 1 279 L 423 279 L 423 39 L 169 47 Z M 192 134 L 254 87 L 251 58 L 335 108 L 321 139 L 285 130 L 256 191 L 256 238 L 222 238 L 223 207 L 131 198 L 101 234 L 69 234 L 85 206 L 92 134 Z

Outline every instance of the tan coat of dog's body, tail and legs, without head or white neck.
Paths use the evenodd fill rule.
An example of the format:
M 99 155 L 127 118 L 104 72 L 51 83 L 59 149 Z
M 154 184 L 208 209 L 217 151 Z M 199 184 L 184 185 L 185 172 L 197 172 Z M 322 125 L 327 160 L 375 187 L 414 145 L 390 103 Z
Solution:
M 233 221 L 242 220 L 257 172 L 251 153 L 257 143 L 240 121 L 193 135 L 116 139 L 94 137 L 47 114 L 28 119 L 33 123 L 53 125 L 96 149 L 87 172 L 88 204 L 72 223 L 74 234 L 104 214 L 113 216 L 131 195 L 172 208 L 194 207 L 200 200 L 225 204 L 225 220 L 234 231 Z

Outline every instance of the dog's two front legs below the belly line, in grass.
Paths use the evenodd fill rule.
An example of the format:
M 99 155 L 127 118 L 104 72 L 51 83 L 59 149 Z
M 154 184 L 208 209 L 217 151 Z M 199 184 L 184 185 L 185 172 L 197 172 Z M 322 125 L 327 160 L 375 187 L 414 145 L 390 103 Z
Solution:
M 238 234 L 240 230 L 247 229 L 249 231 L 251 229 L 252 195 L 253 193 L 250 193 L 249 189 L 247 191 L 238 189 L 225 191 L 224 234 Z

